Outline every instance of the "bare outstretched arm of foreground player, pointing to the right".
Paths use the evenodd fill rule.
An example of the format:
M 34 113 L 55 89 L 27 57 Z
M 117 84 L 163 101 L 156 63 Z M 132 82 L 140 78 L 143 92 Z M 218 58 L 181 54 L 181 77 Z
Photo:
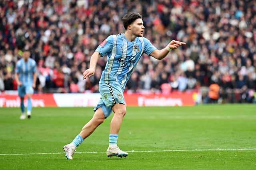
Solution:
M 172 40 L 164 49 L 154 50 L 152 53 L 150 53 L 150 56 L 154 57 L 155 59 L 162 60 L 164 57 L 166 57 L 169 51 L 185 44 L 186 43 L 181 41 Z

